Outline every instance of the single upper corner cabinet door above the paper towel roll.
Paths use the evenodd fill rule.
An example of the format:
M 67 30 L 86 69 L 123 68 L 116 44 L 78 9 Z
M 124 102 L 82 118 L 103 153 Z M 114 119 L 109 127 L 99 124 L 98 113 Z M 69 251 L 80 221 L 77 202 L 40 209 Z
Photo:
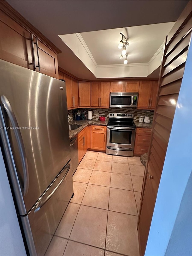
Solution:
M 91 106 L 91 83 L 79 81 L 79 107 Z

